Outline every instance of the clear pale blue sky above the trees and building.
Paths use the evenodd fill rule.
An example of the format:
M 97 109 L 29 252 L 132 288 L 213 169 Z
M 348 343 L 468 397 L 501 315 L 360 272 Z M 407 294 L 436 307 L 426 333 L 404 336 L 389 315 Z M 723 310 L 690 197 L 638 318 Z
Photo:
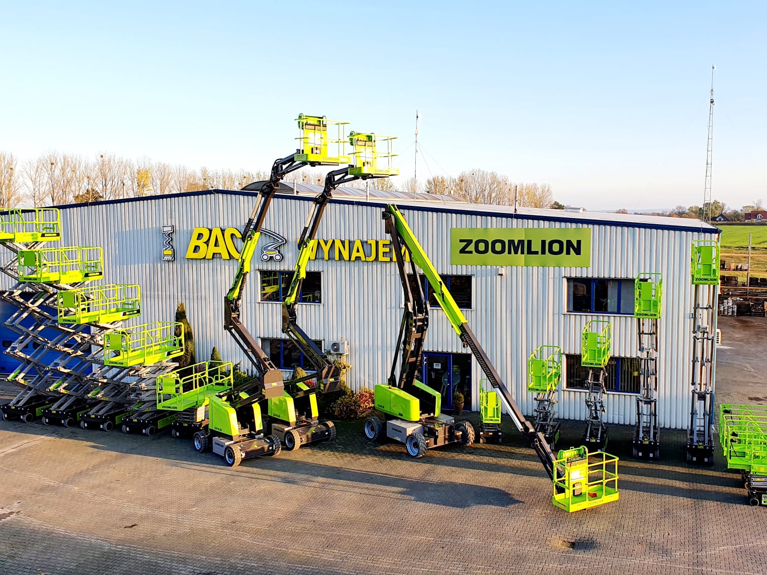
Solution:
M 5 0 L 0 53 L 0 149 L 21 159 L 266 169 L 298 113 L 403 150 L 417 108 L 432 173 L 589 209 L 702 201 L 716 64 L 713 196 L 767 201 L 765 2 Z

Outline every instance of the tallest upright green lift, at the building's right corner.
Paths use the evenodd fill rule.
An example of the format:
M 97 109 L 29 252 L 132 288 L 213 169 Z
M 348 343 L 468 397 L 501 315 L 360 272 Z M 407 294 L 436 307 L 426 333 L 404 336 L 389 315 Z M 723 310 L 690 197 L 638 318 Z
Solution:
M 716 299 L 719 295 L 719 242 L 693 241 L 693 376 L 686 459 L 713 463 L 713 393 L 716 354 Z

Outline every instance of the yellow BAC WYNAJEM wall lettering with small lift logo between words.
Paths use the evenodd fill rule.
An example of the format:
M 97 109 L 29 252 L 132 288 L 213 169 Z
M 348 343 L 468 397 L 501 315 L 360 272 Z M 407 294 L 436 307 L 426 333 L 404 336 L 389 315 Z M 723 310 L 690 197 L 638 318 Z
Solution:
M 261 260 L 282 261 L 278 248 L 285 245 L 287 240 L 277 232 L 262 228 L 261 233 L 268 241 L 261 248 Z M 186 248 L 186 259 L 237 259 L 239 258 L 239 242 L 235 246 L 235 238 L 240 240 L 242 234 L 237 228 L 194 228 L 189 245 Z M 395 261 L 391 241 L 384 239 L 317 239 L 311 245 L 309 259 L 334 261 Z M 406 259 L 407 254 L 406 254 Z

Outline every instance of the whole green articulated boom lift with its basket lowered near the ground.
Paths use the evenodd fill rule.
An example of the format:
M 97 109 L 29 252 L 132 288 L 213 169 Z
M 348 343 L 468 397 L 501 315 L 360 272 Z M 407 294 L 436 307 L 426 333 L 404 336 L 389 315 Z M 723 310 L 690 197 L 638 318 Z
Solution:
M 400 280 L 406 294 L 405 314 L 400 325 L 400 337 L 397 343 L 397 347 L 400 344 L 403 346 L 400 378 L 395 380 L 393 368 L 389 383 L 379 384 L 374 390 L 376 408 L 392 416 L 392 419 L 387 422 L 387 435 L 405 442 L 410 455 L 416 457 L 423 455 L 426 447 L 443 445 L 444 442 L 439 443 L 439 440 L 449 433 L 440 429 L 440 426 L 453 428 L 453 441 L 468 443 L 469 439 L 473 439 L 467 433 L 471 429 L 468 422 L 448 423 L 436 417 L 439 413 L 439 399 L 441 399 L 439 393 L 415 380 L 414 374 L 418 373 L 423 350 L 428 304 L 425 301 L 424 304 L 417 302 L 419 297 L 423 299 L 420 285 L 415 290 L 410 287 L 402 261 L 402 251 L 400 251 L 400 246 L 403 246 L 410 252 L 413 274 L 416 274 L 416 266 L 423 271 L 426 281 L 429 281 L 434 291 L 436 301 L 442 307 L 453 329 L 456 330 L 456 334 L 459 335 L 463 345 L 471 350 L 490 384 L 499 393 L 501 402 L 515 426 L 528 439 L 549 478 L 554 482 L 552 503 L 567 511 L 578 511 L 616 501 L 618 498 L 617 459 L 603 452 L 589 454 L 584 447 L 561 450 L 555 457 L 545 436 L 536 431 L 532 423 L 525 419 L 511 392 L 504 385 L 495 366 L 492 365 L 487 353 L 469 328 L 466 317 L 463 316 L 458 304 L 445 287 L 442 278 L 396 205 L 387 205 L 384 221 L 387 232 L 392 238 L 393 251 L 397 255 L 397 265 L 400 269 Z M 418 277 L 417 274 L 415 277 Z M 420 284 L 419 281 L 413 283 Z M 407 301 L 408 297 L 411 301 Z M 395 366 L 396 362 L 395 359 Z M 402 385 L 406 385 L 407 389 L 400 387 Z M 427 401 L 426 409 L 434 405 L 433 416 L 420 412 L 419 399 L 421 397 L 428 399 L 429 396 L 434 398 L 434 402 Z M 394 419 L 397 417 L 401 419 Z M 370 418 L 365 422 L 365 433 L 370 439 L 376 439 L 382 433 L 381 422 L 376 419 Z M 370 437 L 371 432 L 375 432 L 376 435 Z M 401 437 L 403 434 L 405 437 Z M 429 439 L 426 439 L 426 435 L 429 435 Z

